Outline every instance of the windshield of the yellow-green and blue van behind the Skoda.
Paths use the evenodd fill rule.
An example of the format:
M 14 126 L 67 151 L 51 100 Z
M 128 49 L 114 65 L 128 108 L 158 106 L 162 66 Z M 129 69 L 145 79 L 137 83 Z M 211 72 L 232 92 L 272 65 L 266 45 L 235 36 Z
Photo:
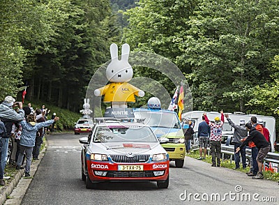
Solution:
M 180 128 L 179 119 L 173 112 L 135 111 L 135 117 L 144 118 L 151 127 Z

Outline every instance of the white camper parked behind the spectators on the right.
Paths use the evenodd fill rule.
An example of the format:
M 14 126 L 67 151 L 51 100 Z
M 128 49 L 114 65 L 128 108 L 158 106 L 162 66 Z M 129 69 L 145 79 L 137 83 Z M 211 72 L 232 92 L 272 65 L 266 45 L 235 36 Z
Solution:
M 182 118 L 189 119 L 193 122 L 193 128 L 195 131 L 195 141 L 194 144 L 198 143 L 197 139 L 197 128 L 199 123 L 202 122 L 202 114 L 204 111 L 192 111 L 182 114 Z M 224 113 L 225 114 L 225 113 Z M 246 122 L 250 121 L 251 116 L 256 116 L 257 119 L 262 119 L 264 121 L 264 126 L 269 130 L 270 140 L 271 140 L 271 151 L 274 151 L 274 142 L 276 141 L 276 120 L 273 116 L 262 116 L 257 114 L 243 114 L 243 113 L 227 113 L 229 114 L 229 119 L 231 119 L 235 124 L 239 125 L 240 119 L 245 119 Z M 216 116 L 221 116 L 220 112 L 206 112 L 206 115 L 209 118 L 209 121 L 213 121 Z M 232 142 L 232 135 L 234 133 L 234 128 L 229 126 L 227 119 L 225 118 L 225 123 L 223 125 L 223 139 L 222 143 L 230 145 Z

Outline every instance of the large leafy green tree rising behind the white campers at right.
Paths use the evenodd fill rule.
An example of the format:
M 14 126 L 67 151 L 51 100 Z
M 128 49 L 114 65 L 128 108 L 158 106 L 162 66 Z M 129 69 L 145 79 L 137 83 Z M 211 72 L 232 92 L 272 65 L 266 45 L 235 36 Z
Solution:
M 269 82 L 267 66 L 278 53 L 278 1 L 202 1 L 188 24 L 195 105 L 251 110 L 251 88 Z

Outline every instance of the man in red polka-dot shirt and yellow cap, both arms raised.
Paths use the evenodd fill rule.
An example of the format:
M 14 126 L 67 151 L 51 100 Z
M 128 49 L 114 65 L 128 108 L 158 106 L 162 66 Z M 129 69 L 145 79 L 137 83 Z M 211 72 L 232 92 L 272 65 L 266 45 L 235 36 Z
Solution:
M 224 124 L 224 114 L 221 110 L 221 121 L 218 116 L 214 119 L 214 123 L 211 123 L 204 113 L 204 120 L 209 125 L 211 132 L 209 137 L 210 151 L 212 157 L 212 167 L 216 167 L 216 157 L 217 157 L 217 167 L 220 167 L 221 158 L 221 139 L 222 139 L 222 128 Z

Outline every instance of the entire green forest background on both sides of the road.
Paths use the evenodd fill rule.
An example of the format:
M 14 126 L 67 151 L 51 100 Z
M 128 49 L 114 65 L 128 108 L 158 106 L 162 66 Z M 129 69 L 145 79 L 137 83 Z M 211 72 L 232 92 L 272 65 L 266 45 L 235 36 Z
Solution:
M 110 45 L 169 59 L 186 77 L 193 109 L 278 119 L 279 1 L 2 0 L 0 98 L 42 100 L 79 112 Z M 121 14 L 121 15 L 119 15 Z M 151 68 L 170 96 L 175 86 Z M 144 96 L 137 106 L 146 103 Z

